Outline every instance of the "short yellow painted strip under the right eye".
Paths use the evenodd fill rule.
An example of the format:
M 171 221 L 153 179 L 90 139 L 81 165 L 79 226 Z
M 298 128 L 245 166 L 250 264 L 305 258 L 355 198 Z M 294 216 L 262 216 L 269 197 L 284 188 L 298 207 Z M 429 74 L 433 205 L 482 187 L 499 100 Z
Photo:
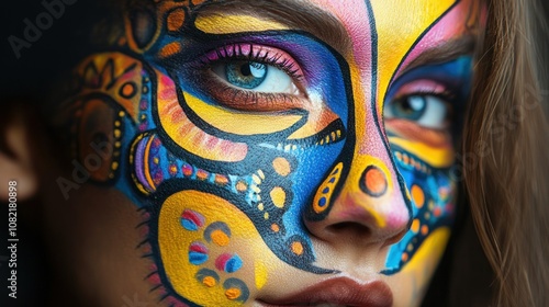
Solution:
M 453 163 L 453 150 L 451 148 L 434 148 L 418 141 L 410 141 L 400 137 L 389 137 L 389 143 L 402 147 L 412 155 L 435 168 L 447 168 Z

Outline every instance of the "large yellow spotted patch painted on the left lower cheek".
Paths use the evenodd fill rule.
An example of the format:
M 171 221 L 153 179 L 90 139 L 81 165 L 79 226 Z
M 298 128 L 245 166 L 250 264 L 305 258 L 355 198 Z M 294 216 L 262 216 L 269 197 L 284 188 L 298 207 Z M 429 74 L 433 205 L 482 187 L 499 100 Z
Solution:
M 195 304 L 242 305 L 250 291 L 265 285 L 265 263 L 278 262 L 248 216 L 210 193 L 175 193 L 153 218 L 157 219 L 158 265 L 175 292 Z

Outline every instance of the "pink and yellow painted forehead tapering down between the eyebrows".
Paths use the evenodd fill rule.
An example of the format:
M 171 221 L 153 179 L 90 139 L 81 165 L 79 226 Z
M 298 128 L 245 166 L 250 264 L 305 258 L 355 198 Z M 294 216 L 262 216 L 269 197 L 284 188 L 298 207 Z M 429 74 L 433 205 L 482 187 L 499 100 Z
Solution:
M 478 0 L 309 0 L 336 16 L 351 42 L 344 56 L 362 80 L 377 75 L 378 93 L 423 54 L 474 34 Z M 469 39 L 470 41 L 470 39 Z M 449 49 L 449 48 L 446 48 Z M 436 60 L 436 59 L 434 59 Z

